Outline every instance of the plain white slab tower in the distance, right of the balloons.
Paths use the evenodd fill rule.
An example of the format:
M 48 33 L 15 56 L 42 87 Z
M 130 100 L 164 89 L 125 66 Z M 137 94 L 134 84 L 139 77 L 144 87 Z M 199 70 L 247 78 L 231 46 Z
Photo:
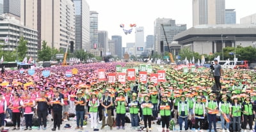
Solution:
M 145 51 L 144 27 L 135 28 L 135 49 L 136 55 L 141 55 Z

